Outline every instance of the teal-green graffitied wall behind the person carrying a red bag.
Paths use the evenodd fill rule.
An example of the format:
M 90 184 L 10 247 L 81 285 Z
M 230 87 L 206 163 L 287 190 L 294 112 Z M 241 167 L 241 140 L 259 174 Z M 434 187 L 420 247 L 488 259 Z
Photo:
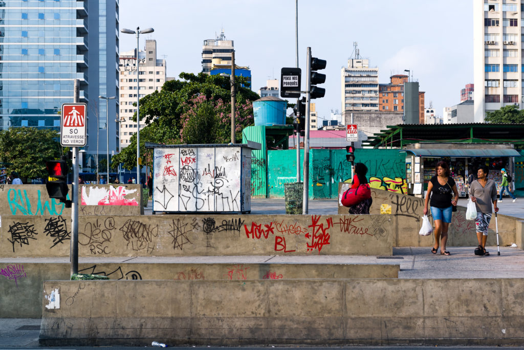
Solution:
M 300 161 L 302 163 L 303 150 Z M 368 167 L 368 179 L 375 188 L 405 191 L 405 154 L 395 149 L 357 149 L 355 160 Z M 284 184 L 296 182 L 297 151 L 274 150 L 267 152 L 268 197 L 283 198 Z M 345 149 L 312 149 L 309 167 L 309 198 L 337 198 L 339 182 L 351 181 L 351 166 Z M 300 174 L 303 180 L 303 171 Z

